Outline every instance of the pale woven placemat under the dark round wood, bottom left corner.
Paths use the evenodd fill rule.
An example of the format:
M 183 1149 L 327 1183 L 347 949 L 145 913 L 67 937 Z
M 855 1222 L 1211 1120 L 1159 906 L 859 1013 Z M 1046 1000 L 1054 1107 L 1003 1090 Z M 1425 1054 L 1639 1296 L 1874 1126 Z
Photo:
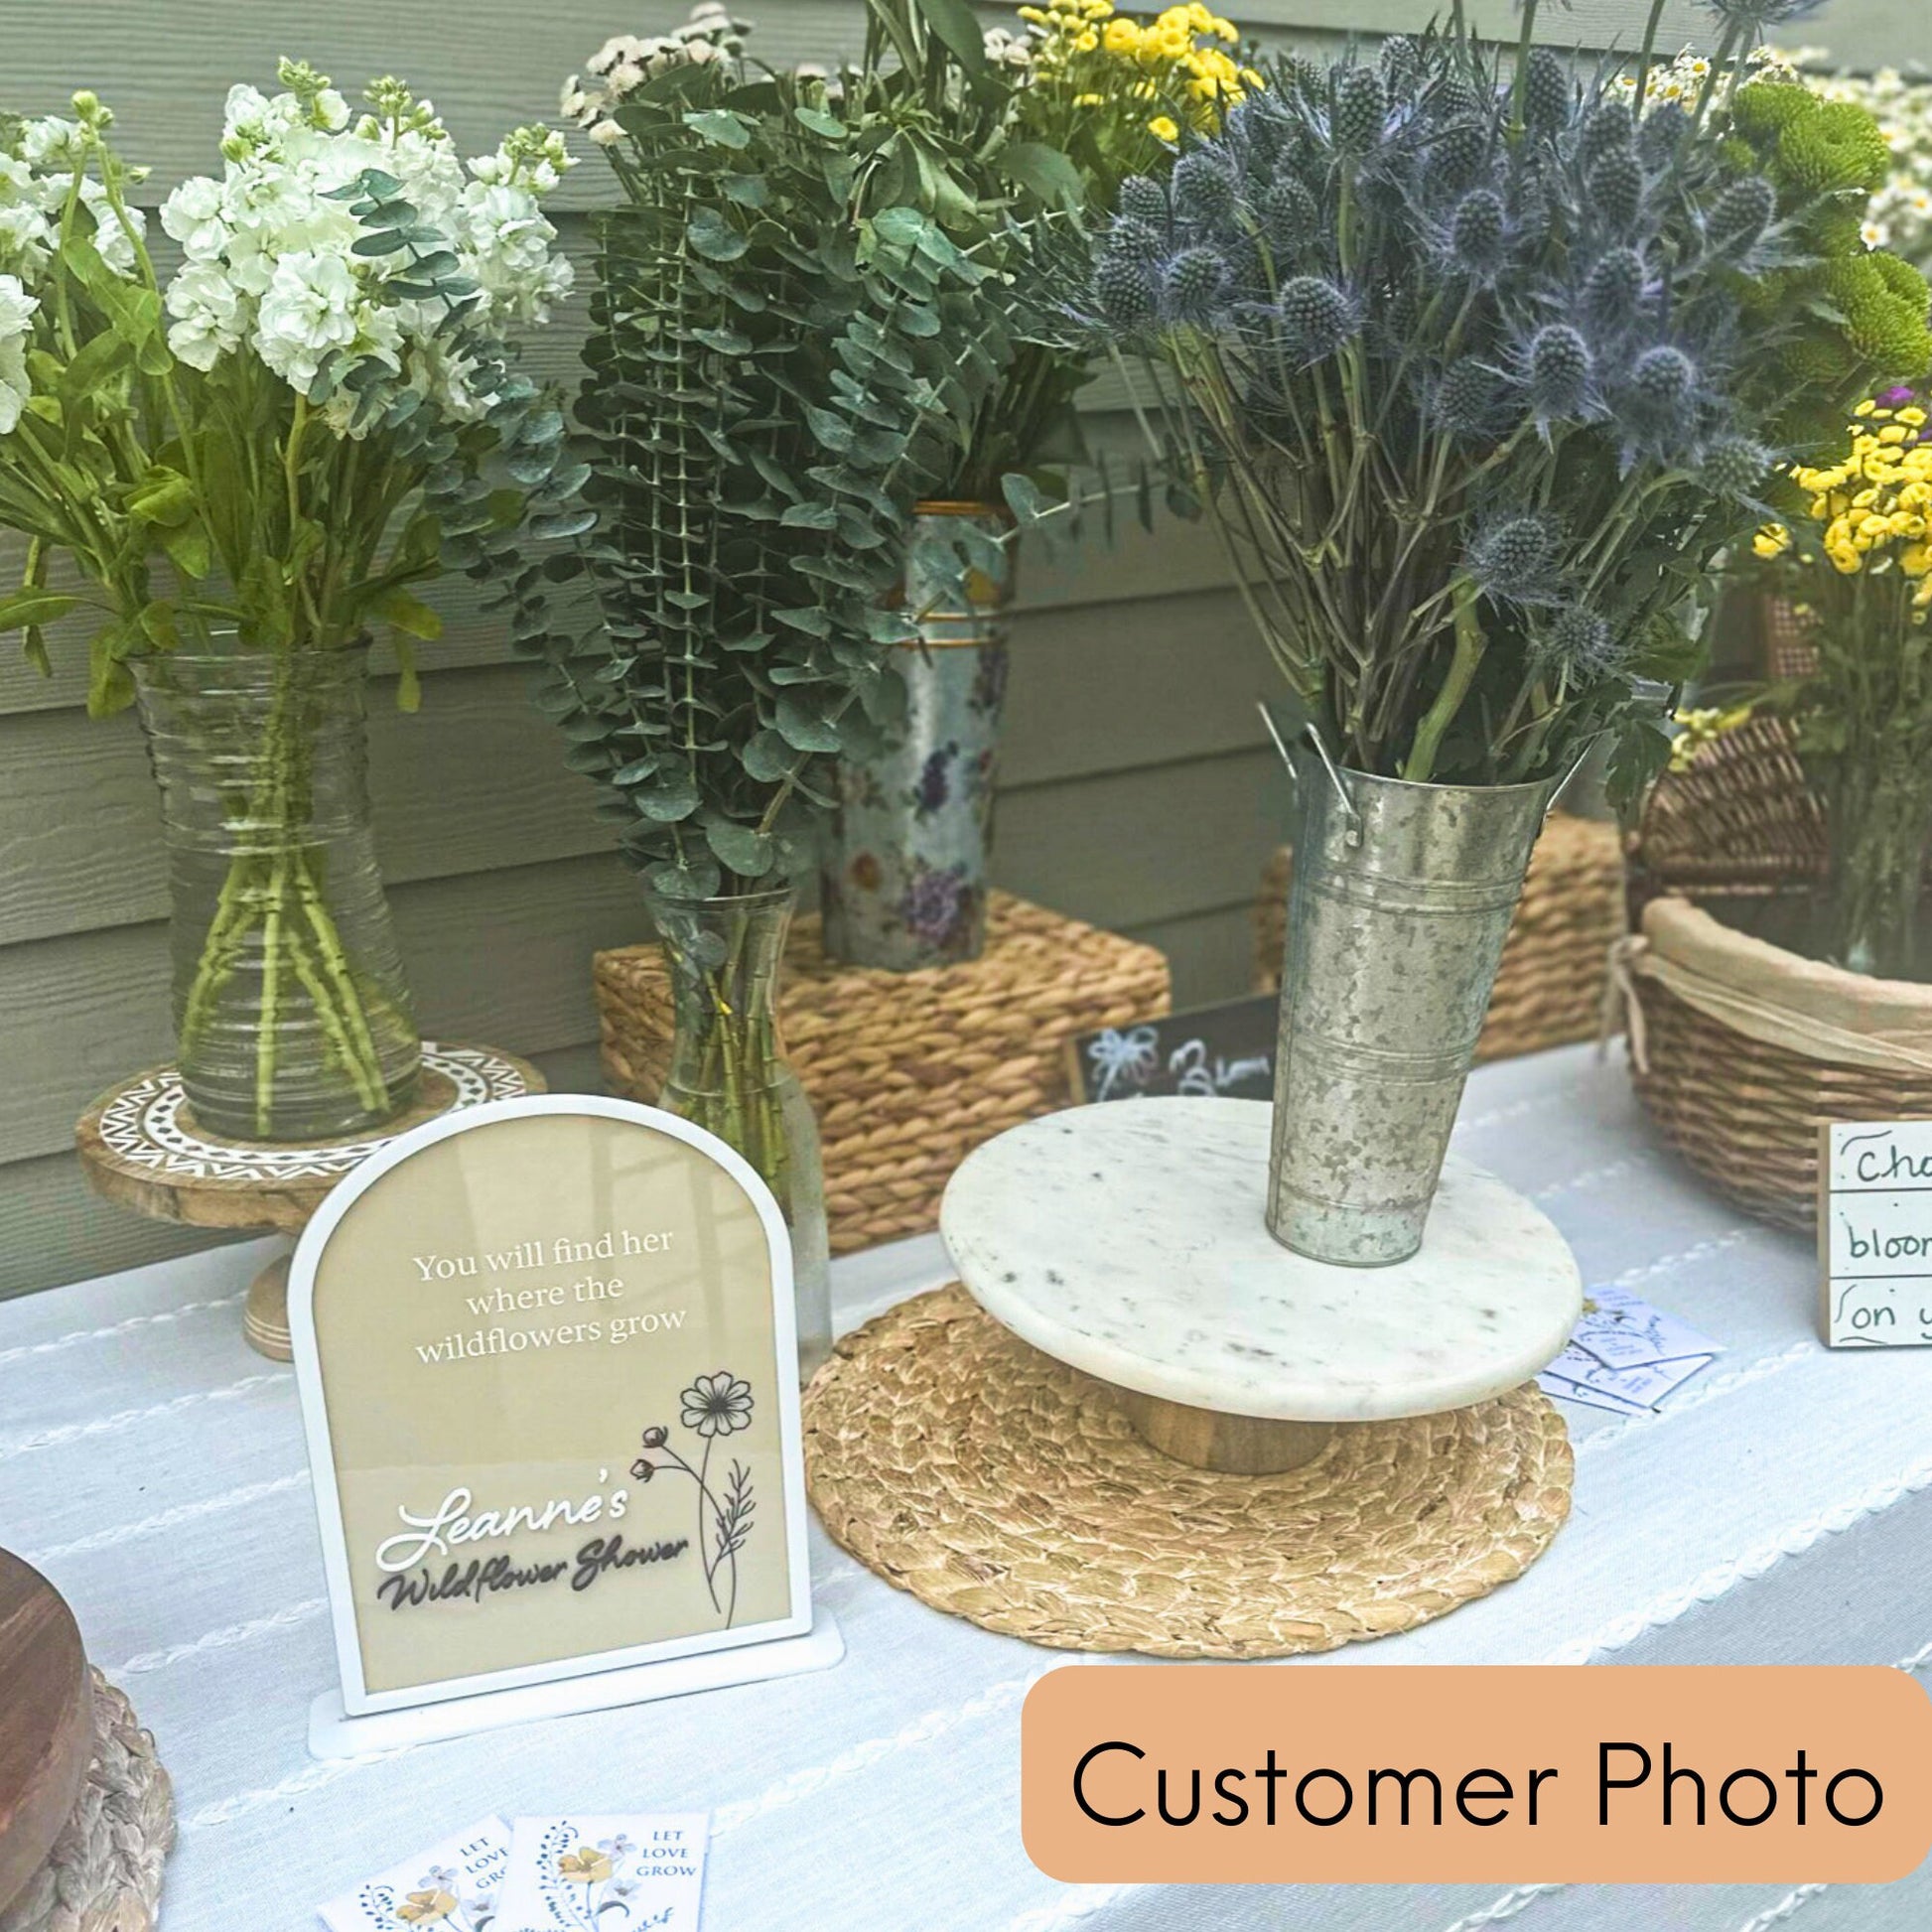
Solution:
M 133 1706 L 95 1679 L 95 1756 L 46 1864 L 0 1911 L 0 1932 L 151 1932 L 174 1845 L 174 1789 Z

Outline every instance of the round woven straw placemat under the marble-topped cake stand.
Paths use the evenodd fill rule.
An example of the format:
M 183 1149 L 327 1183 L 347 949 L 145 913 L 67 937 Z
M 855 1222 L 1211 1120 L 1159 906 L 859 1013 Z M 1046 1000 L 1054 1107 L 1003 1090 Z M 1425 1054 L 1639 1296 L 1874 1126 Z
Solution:
M 1569 1515 L 1534 1387 L 1354 1422 L 1304 1468 L 1215 1476 L 960 1287 L 846 1335 L 806 1393 L 833 1538 L 935 1609 L 1055 1650 L 1281 1658 L 1441 1617 L 1520 1577 Z

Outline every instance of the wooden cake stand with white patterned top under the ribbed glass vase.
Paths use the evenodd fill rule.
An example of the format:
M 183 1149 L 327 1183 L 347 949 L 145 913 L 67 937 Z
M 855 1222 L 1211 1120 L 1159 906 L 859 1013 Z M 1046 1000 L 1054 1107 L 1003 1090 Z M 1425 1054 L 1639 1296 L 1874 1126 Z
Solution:
M 396 1134 L 458 1107 L 545 1092 L 543 1074 L 500 1047 L 423 1041 L 415 1105 L 379 1134 L 298 1144 L 230 1140 L 195 1121 L 174 1066 L 151 1066 L 102 1094 L 73 1128 L 95 1192 L 155 1221 L 261 1235 L 299 1235 L 323 1196 Z M 249 1285 L 249 1347 L 290 1358 L 288 1254 Z

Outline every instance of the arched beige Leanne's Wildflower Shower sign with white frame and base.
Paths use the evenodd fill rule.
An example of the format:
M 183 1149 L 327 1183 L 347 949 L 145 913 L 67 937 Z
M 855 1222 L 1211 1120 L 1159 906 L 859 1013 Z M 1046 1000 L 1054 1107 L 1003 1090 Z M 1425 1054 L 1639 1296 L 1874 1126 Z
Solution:
M 342 1677 L 319 1752 L 835 1662 L 790 1248 L 723 1142 L 583 1095 L 429 1122 L 328 1196 L 290 1327 Z

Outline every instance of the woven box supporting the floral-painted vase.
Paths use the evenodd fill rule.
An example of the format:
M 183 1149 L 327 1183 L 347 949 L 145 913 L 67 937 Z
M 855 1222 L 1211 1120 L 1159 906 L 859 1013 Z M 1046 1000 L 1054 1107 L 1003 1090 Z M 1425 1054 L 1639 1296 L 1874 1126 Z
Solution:
M 670 1047 L 659 949 L 599 952 L 595 985 L 605 1072 L 649 1101 Z M 980 1142 L 1068 1103 L 1065 1041 L 1159 1018 L 1171 987 L 1153 947 L 995 893 L 980 958 L 908 974 L 827 960 L 802 918 L 779 1007 L 819 1115 L 833 1254 L 850 1254 L 937 1227 Z

